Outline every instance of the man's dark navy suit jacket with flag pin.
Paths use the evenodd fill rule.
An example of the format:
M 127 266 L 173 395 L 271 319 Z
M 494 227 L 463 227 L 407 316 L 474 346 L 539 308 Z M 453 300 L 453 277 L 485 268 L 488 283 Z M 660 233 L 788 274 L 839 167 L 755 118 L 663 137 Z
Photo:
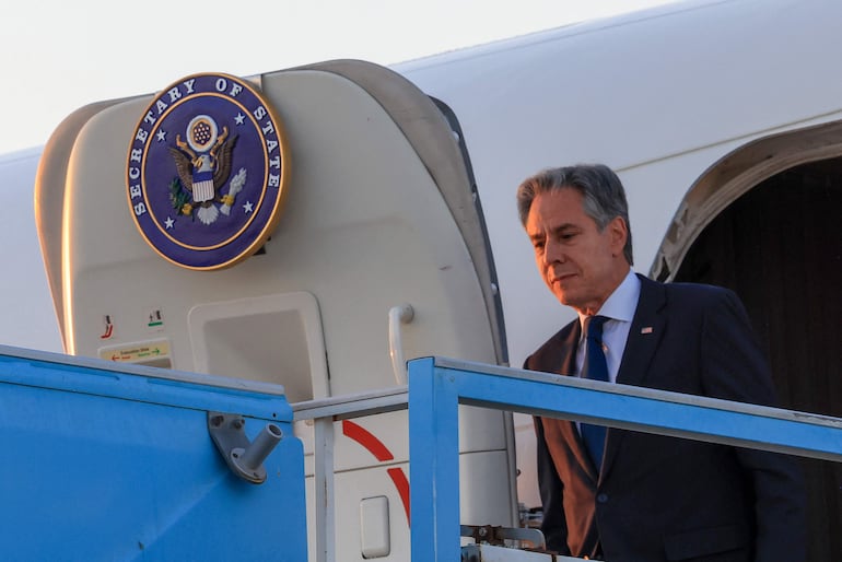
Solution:
M 765 360 L 733 292 L 639 278 L 618 384 L 775 403 Z M 642 333 L 644 327 L 652 330 Z M 525 368 L 575 375 L 580 332 L 578 321 L 571 323 Z M 803 482 L 791 457 L 609 428 L 597 478 L 575 423 L 535 421 L 551 550 L 609 562 L 806 555 Z

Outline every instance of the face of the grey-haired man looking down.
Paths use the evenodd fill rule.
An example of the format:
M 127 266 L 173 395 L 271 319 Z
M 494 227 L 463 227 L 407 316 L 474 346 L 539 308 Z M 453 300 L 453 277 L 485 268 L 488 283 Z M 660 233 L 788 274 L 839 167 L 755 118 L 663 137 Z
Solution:
M 622 254 L 628 231 L 625 221 L 617 216 L 599 232 L 582 200 L 573 188 L 537 196 L 526 233 L 552 294 L 562 304 L 593 315 L 629 272 Z

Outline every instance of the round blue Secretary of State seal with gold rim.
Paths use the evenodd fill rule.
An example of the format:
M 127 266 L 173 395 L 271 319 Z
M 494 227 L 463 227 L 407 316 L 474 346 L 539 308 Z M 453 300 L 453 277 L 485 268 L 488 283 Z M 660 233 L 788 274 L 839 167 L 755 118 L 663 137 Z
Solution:
M 135 223 L 166 260 L 195 270 L 252 256 L 280 219 L 289 149 L 272 107 L 246 81 L 194 74 L 161 91 L 126 165 Z

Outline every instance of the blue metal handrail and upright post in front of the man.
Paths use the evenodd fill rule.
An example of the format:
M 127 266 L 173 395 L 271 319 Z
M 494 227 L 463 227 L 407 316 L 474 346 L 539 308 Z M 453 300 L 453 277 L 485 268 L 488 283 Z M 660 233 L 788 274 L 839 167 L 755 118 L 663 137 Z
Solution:
M 459 560 L 458 405 L 842 461 L 842 419 L 442 358 L 409 362 L 412 560 Z

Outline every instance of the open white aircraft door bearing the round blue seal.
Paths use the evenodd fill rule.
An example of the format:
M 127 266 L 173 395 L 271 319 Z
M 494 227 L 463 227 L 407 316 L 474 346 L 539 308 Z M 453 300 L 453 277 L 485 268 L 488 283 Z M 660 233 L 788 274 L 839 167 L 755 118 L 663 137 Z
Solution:
M 387 69 L 334 61 L 196 74 L 71 115 L 36 185 L 66 350 L 279 383 L 291 402 L 402 385 L 418 356 L 505 364 L 443 109 Z M 409 558 L 406 415 L 336 424 L 339 560 Z M 312 455 L 309 432 L 297 423 Z M 463 407 L 459 442 L 463 524 L 516 526 L 511 415 Z

